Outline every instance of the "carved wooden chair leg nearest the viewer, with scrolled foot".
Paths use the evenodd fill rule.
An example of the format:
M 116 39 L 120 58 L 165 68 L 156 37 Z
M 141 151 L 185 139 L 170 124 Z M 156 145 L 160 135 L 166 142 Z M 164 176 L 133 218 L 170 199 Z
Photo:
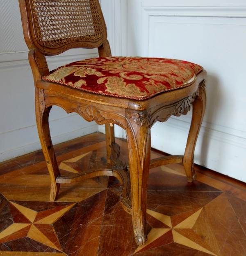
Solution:
M 141 246 L 147 241 L 146 200 L 151 149 L 149 115 L 144 112 L 127 116 L 126 137 L 132 192 L 132 225 L 136 243 Z

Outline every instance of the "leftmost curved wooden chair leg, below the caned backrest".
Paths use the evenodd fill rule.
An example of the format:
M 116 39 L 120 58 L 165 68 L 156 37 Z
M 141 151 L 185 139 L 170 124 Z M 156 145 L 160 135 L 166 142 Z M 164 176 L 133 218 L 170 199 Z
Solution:
M 56 177 L 60 175 L 60 172 L 50 137 L 49 113 L 51 107 L 45 107 L 43 89 L 35 88 L 35 104 L 39 139 L 51 179 L 50 201 L 55 201 L 60 188 L 60 184 L 56 183 Z

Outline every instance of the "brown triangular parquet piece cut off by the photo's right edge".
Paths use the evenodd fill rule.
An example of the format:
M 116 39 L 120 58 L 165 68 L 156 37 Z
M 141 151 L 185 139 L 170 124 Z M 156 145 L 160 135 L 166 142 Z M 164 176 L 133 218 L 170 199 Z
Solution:
M 244 233 L 246 233 L 246 201 L 235 197 L 231 193 L 225 193 L 236 216 L 239 220 Z

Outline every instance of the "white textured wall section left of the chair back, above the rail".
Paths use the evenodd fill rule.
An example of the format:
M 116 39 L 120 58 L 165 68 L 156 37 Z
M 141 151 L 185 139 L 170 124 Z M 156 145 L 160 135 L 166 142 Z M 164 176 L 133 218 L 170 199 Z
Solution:
M 0 0 L 0 53 L 25 50 L 18 0 Z

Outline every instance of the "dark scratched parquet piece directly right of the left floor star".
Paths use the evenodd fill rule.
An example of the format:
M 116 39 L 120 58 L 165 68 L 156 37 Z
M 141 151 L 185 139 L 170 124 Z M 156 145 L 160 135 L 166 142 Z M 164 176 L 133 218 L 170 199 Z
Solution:
M 102 191 L 77 203 L 53 224 L 66 254 L 97 255 L 106 193 Z

